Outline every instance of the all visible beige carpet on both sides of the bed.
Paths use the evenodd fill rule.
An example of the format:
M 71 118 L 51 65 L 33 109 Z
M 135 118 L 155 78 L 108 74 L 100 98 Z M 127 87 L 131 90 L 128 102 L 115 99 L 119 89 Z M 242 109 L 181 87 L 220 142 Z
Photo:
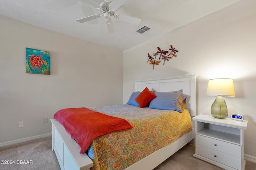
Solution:
M 0 164 L 0 170 L 60 170 L 56 155 L 51 150 L 51 140 L 48 137 L 0 148 L 0 160 L 14 161 L 14 164 Z M 195 147 L 188 144 L 154 170 L 222 170 L 194 158 L 194 152 Z M 247 161 L 245 169 L 256 170 L 256 164 Z

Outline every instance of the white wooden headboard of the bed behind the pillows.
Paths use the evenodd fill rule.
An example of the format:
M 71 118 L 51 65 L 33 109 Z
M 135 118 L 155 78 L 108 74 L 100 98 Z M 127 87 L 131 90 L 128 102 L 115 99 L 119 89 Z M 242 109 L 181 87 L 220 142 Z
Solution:
M 188 96 L 185 108 L 188 109 L 190 115 L 196 116 L 196 75 L 138 80 L 134 82 L 135 92 L 141 92 L 146 87 L 156 92 L 171 92 L 183 89 L 183 93 Z

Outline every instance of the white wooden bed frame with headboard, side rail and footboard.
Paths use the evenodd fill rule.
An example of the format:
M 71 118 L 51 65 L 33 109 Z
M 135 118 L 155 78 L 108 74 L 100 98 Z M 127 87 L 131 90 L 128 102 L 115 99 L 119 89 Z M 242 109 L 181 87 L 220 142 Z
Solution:
M 188 96 L 185 108 L 190 111 L 191 116 L 196 115 L 196 75 L 135 81 L 135 91 L 142 91 L 145 87 L 148 87 L 149 90 L 154 89 L 156 92 L 183 89 L 184 94 Z M 93 165 L 92 160 L 87 154 L 79 153 L 81 148 L 71 139 L 70 135 L 56 119 L 51 119 L 51 122 L 52 151 L 55 152 L 58 158 L 60 168 L 62 170 L 89 170 Z M 146 156 L 125 168 L 125 170 L 152 170 L 189 143 L 194 137 L 193 127 L 192 131 L 183 135 L 177 141 Z

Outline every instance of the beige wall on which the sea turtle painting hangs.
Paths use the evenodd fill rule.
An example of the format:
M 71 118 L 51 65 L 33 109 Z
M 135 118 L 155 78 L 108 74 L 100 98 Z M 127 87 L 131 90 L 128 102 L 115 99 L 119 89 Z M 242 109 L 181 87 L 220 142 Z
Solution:
M 26 47 L 51 52 L 51 75 L 26 73 Z M 1 16 L 0 143 L 51 133 L 59 109 L 122 104 L 122 63 L 122 51 Z

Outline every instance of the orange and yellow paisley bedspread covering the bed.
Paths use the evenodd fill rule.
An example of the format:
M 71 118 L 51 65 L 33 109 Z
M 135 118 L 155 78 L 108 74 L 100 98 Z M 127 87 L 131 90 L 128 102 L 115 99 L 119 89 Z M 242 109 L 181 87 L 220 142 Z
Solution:
M 126 119 L 133 126 L 94 139 L 88 149 L 94 162 L 90 170 L 122 170 L 192 130 L 186 109 L 179 113 L 127 104 L 90 109 Z

